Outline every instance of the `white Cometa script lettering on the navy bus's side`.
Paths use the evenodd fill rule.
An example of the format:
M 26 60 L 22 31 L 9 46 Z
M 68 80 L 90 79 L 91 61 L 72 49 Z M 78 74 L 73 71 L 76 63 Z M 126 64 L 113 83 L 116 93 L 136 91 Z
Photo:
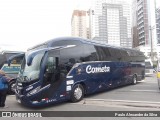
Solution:
M 88 74 L 90 74 L 90 73 L 101 73 L 101 72 L 110 72 L 110 67 L 106 67 L 106 65 L 104 67 L 92 67 L 91 65 L 88 65 L 86 67 L 86 72 Z

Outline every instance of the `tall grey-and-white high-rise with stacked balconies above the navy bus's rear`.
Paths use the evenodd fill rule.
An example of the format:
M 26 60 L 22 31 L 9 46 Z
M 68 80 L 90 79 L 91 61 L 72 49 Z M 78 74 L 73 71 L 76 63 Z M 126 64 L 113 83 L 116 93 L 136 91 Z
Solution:
M 133 47 L 149 45 L 148 0 L 133 0 Z

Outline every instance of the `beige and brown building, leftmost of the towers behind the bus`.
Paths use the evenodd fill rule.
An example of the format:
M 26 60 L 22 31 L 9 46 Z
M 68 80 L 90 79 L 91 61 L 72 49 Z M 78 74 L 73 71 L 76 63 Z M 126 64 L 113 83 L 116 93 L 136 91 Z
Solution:
M 89 15 L 84 10 L 74 10 L 71 19 L 72 36 L 90 38 Z

